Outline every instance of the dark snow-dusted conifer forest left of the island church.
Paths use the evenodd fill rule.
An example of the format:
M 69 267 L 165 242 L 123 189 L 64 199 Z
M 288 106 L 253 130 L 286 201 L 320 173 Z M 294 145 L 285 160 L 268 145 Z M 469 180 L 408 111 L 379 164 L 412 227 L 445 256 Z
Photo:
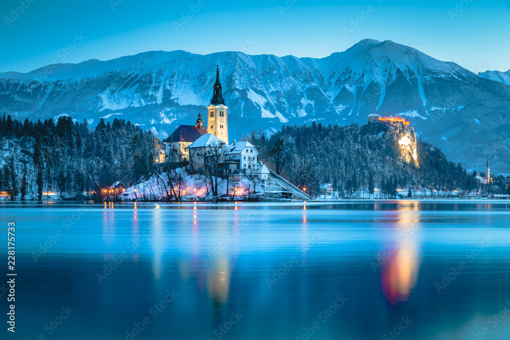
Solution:
M 69 116 L 37 122 L 0 119 L 0 191 L 11 199 L 94 198 L 114 181 L 134 184 L 154 169 L 154 136 L 115 119 L 90 130 Z

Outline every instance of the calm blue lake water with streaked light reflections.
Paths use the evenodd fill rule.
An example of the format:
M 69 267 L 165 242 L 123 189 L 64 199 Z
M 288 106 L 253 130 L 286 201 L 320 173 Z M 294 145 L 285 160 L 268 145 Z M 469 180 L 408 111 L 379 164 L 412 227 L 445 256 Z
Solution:
M 510 202 L 3 202 L 0 216 L 17 273 L 2 339 L 510 338 Z

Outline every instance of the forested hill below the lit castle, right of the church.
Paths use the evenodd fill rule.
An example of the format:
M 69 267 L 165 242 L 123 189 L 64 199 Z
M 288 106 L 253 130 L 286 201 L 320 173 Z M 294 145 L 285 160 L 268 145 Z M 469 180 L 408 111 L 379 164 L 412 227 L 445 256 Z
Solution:
M 402 138 L 410 147 L 399 144 Z M 397 188 L 467 191 L 478 186 L 474 174 L 449 162 L 440 149 L 416 141 L 414 132 L 403 125 L 376 122 L 360 128 L 314 122 L 284 126 L 269 139 L 252 133 L 249 140 L 259 149 L 259 160 L 312 194 L 326 182 L 347 197 L 358 189 L 373 193 L 374 187 L 391 198 Z

